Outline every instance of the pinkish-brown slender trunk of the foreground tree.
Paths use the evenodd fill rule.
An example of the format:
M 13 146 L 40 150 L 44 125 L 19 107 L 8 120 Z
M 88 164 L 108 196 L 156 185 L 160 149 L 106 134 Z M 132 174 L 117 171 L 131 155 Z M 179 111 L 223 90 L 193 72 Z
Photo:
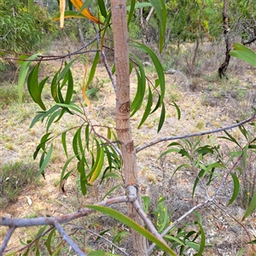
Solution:
M 137 158 L 133 139 L 131 137 L 130 120 L 130 73 L 129 73 L 129 45 L 126 22 L 126 0 L 111 0 L 113 19 L 114 62 L 116 75 L 116 132 L 122 152 L 122 172 L 125 185 L 137 188 L 140 193 L 137 178 Z M 143 220 L 131 204 L 128 205 L 128 214 L 137 224 L 143 225 Z M 134 255 L 148 255 L 148 242 L 135 231 L 131 231 Z

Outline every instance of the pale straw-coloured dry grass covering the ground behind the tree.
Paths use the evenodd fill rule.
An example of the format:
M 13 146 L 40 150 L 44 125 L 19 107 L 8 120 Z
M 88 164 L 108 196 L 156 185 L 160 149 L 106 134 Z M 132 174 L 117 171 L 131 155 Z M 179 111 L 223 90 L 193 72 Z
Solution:
M 203 48 L 199 55 L 201 61 L 196 67 L 196 73 L 198 73 L 200 77 L 192 80 L 195 91 L 189 91 L 189 88 L 185 86 L 186 81 L 182 76 L 166 74 L 166 123 L 163 126 L 162 131 L 160 131 L 160 134 L 157 134 L 154 127 L 158 123 L 159 113 L 154 113 L 154 115 L 150 116 L 145 122 L 145 125 L 139 130 L 133 129 L 136 145 L 146 143 L 156 137 L 166 137 L 172 134 L 186 134 L 191 131 L 203 131 L 221 127 L 233 123 L 234 119 L 241 119 L 243 115 L 249 113 L 249 102 L 251 102 L 254 93 L 253 86 L 255 85 L 255 73 L 253 72 L 255 70 L 247 70 L 247 67 L 243 64 L 241 68 L 241 66 L 238 66 L 238 64 L 241 64 L 240 61 L 232 61 L 229 73 L 231 78 L 230 81 L 220 80 L 216 75 L 216 67 L 218 67 L 219 60 L 223 57 L 223 52 L 221 50 L 223 49 L 222 46 L 217 44 L 213 46 L 204 44 L 201 47 Z M 51 51 L 52 49 L 49 50 L 49 52 Z M 189 58 L 189 55 L 185 55 L 184 58 Z M 184 67 L 183 63 L 186 62 L 182 62 L 183 60 L 183 55 L 180 55 L 176 60 L 176 67 L 185 73 L 186 67 Z M 55 65 L 44 64 L 44 73 L 54 73 L 58 64 L 59 63 L 55 63 Z M 79 63 L 73 68 L 76 84 L 75 90 L 77 90 L 78 95 L 80 95 L 81 70 L 84 70 L 83 63 Z M 93 88 L 98 89 L 98 92 L 96 96 L 93 96 L 90 100 L 96 110 L 96 122 L 102 125 L 114 126 L 113 113 L 115 97 L 113 95 L 113 88 L 109 83 L 109 79 L 106 79 L 107 75 L 103 70 L 103 67 L 97 68 L 96 79 L 92 86 Z M 242 76 L 243 73 L 247 73 L 246 78 Z M 152 73 L 148 73 L 148 76 L 150 75 L 154 77 Z M 135 81 L 135 76 L 132 74 L 132 95 L 134 95 L 136 91 Z M 1 92 L 2 90 L 5 90 L 5 88 L 8 88 L 8 86 L 9 84 L 1 84 Z M 243 88 L 247 88 L 247 90 L 244 90 Z M 20 106 L 16 103 L 17 95 L 15 93 L 15 88 L 9 87 L 9 89 L 11 89 L 8 90 L 9 96 L 4 96 L 4 100 L 7 102 L 3 102 L 0 113 L 0 128 L 2 131 L 0 142 L 2 150 L 0 165 L 2 166 L 4 164 L 10 165 L 12 162 L 19 162 L 22 159 L 31 162 L 33 151 L 36 148 L 40 137 L 44 134 L 44 128 L 41 124 L 37 124 L 32 129 L 28 129 L 32 118 L 39 108 L 26 97 L 26 104 Z M 236 97 L 233 97 L 232 95 Z M 49 105 L 52 104 L 52 102 L 49 101 L 49 86 L 44 90 L 44 98 L 47 99 Z M 81 96 L 79 96 L 79 99 L 81 99 Z M 177 105 L 181 109 L 182 118 L 180 121 L 177 121 L 176 109 L 169 104 L 172 103 L 172 101 L 177 101 Z M 102 102 L 104 102 L 103 105 Z M 146 102 L 143 102 L 143 106 L 145 106 L 145 104 Z M 98 108 L 98 106 L 100 107 Z M 133 127 L 137 127 L 142 114 L 143 110 L 132 117 Z M 88 115 L 91 116 L 90 111 L 88 111 Z M 62 121 L 59 124 L 56 124 L 51 131 L 53 131 L 54 134 L 58 134 L 63 129 L 73 127 L 77 122 L 79 122 L 79 119 L 71 119 L 70 116 L 64 116 Z M 239 134 L 239 132 L 233 131 L 232 134 L 238 140 L 241 139 L 241 134 Z M 198 195 L 197 199 L 191 199 L 191 186 L 193 186 L 193 181 L 195 179 L 195 173 L 191 172 L 191 170 L 182 169 L 180 172 L 177 172 L 177 176 L 172 177 L 172 173 L 177 166 L 183 164 L 184 159 L 182 157 L 178 157 L 176 154 L 169 154 L 164 160 L 157 160 L 160 153 L 166 150 L 167 144 L 168 143 L 161 143 L 153 148 L 145 149 L 137 155 L 137 160 L 138 167 L 141 170 L 140 179 L 143 194 L 150 195 L 152 200 L 156 201 L 165 193 L 168 211 L 174 212 L 172 215 L 173 221 L 183 214 L 183 212 L 186 212 L 190 207 L 194 206 L 196 200 L 198 198 L 200 199 L 200 195 Z M 70 145 L 68 146 L 68 150 L 71 150 Z M 45 170 L 46 180 L 43 181 L 42 177 L 40 179 L 40 190 L 36 191 L 35 189 L 32 189 L 32 186 L 28 186 L 21 190 L 21 195 L 17 196 L 15 204 L 9 205 L 8 209 L 1 210 L 1 215 L 10 214 L 14 217 L 31 218 L 36 216 L 47 216 L 49 214 L 54 215 L 73 212 L 79 207 L 83 207 L 86 203 L 92 203 L 99 200 L 112 185 L 110 183 L 105 183 L 99 187 L 99 189 L 92 187 L 90 188 L 88 195 L 82 196 L 79 191 L 79 177 L 77 177 L 77 173 L 74 172 L 66 184 L 67 195 L 63 195 L 59 190 L 58 183 L 61 168 L 64 165 L 65 160 L 59 141 L 59 143 L 55 145 L 53 159 Z M 20 168 L 20 170 L 22 170 L 22 168 Z M 250 170 L 253 170 L 253 167 L 250 168 Z M 13 171 L 11 172 L 13 173 Z M 246 177 L 244 180 L 245 182 L 247 181 Z M 213 190 L 210 190 L 210 193 L 212 193 L 212 191 Z M 27 205 L 24 195 L 32 198 L 32 207 Z M 230 212 L 235 211 L 236 206 L 235 208 L 230 207 Z M 224 236 L 227 233 L 232 232 L 232 229 L 241 232 L 241 228 L 237 228 L 238 225 L 235 227 L 235 224 L 234 226 L 233 224 L 231 225 L 231 220 L 224 217 L 223 212 L 218 209 L 206 208 L 201 210 L 201 214 L 206 219 L 206 222 L 204 223 L 206 225 L 206 232 L 213 234 L 211 235 L 213 238 L 210 242 L 214 244 L 214 248 L 207 248 L 209 255 L 216 247 L 221 248 L 223 252 L 227 252 L 223 255 L 233 255 L 231 253 L 235 252 L 234 247 L 244 246 L 244 242 L 241 245 L 241 238 L 244 237 L 244 234 L 240 233 L 239 236 L 236 236 L 236 232 L 233 232 L 233 235 L 230 236 L 230 241 L 234 241 L 235 246 L 224 247 Z M 225 221 L 227 220 L 229 223 L 227 225 L 230 226 L 224 230 L 218 230 L 218 224 L 216 224 L 216 222 L 219 222 L 218 218 L 222 218 L 221 223 L 219 224 L 225 224 Z M 90 219 L 85 221 L 85 224 L 82 224 L 81 221 L 78 221 L 79 225 L 91 229 L 94 229 L 95 227 L 96 229 L 100 229 L 99 225 L 102 224 L 105 224 L 102 228 L 107 229 L 110 225 L 106 222 L 101 222 L 101 220 L 96 217 L 90 217 Z M 110 232 L 116 234 L 117 230 L 121 229 L 118 224 L 114 223 Z M 26 240 L 27 238 L 35 236 L 37 231 L 37 229 L 24 229 L 17 233 L 17 236 L 22 233 L 23 240 Z M 1 229 L 1 239 L 4 234 L 3 229 Z M 86 236 L 88 236 L 88 234 Z M 79 238 L 81 238 L 81 241 L 83 241 L 82 237 L 84 237 L 84 235 L 80 234 Z M 16 237 L 10 244 L 10 247 L 15 245 L 15 239 Z M 238 241 L 240 243 L 239 245 L 237 244 Z M 83 242 L 87 246 L 94 244 L 90 238 L 88 241 Z M 231 253 L 229 250 L 231 250 Z M 64 252 L 67 253 L 67 250 Z M 250 252 L 250 247 L 247 249 L 247 252 Z

